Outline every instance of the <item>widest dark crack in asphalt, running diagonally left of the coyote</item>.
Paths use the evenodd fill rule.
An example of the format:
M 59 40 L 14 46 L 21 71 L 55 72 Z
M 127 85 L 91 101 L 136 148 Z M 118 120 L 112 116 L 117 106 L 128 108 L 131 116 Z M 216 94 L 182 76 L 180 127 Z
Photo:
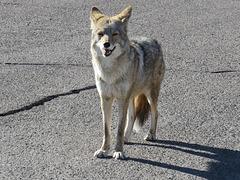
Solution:
M 8 115 L 12 115 L 12 114 L 16 114 L 16 113 L 19 113 L 19 112 L 22 112 L 22 111 L 27 111 L 27 110 L 30 110 L 34 107 L 37 107 L 37 106 L 40 106 L 40 105 L 44 105 L 44 103 L 46 102 L 49 102 L 53 99 L 56 99 L 58 97 L 61 97 L 61 96 L 69 96 L 69 95 L 72 95 L 72 94 L 79 94 L 80 92 L 82 91 L 86 91 L 86 90 L 91 90 L 91 89 L 95 89 L 96 86 L 95 85 L 92 85 L 92 86 L 86 86 L 84 88 L 81 88 L 81 89 L 74 89 L 74 90 L 71 90 L 69 92 L 66 92 L 66 93 L 61 93 L 61 94 L 56 94 L 56 95 L 51 95 L 51 96 L 47 96 L 47 97 L 44 97 L 36 102 L 33 102 L 27 106 L 24 106 L 24 107 L 21 107 L 19 109 L 15 109 L 15 110 L 10 110 L 8 112 L 5 112 L 5 113 L 1 113 L 0 116 L 8 116 Z

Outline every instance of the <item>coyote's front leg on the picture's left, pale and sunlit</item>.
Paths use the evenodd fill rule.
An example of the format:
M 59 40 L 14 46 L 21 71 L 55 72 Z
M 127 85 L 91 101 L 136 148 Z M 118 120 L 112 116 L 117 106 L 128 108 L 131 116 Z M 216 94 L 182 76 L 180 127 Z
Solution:
M 98 158 L 107 157 L 110 150 L 112 103 L 113 103 L 113 97 L 101 96 L 101 108 L 102 108 L 102 116 L 103 116 L 103 133 L 104 134 L 103 134 L 102 147 L 99 150 L 97 150 L 94 154 L 94 156 Z

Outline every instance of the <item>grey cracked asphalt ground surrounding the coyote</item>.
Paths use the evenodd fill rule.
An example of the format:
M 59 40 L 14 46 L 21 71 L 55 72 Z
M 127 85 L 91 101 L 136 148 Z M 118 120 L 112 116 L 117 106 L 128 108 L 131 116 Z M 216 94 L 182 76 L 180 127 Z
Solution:
M 158 39 L 167 71 L 158 140 L 96 159 L 100 103 L 91 6 L 131 5 L 130 36 Z M 240 179 L 240 2 L 0 1 L 0 179 Z M 117 108 L 113 107 L 113 137 Z M 115 140 L 113 140 L 113 143 Z

